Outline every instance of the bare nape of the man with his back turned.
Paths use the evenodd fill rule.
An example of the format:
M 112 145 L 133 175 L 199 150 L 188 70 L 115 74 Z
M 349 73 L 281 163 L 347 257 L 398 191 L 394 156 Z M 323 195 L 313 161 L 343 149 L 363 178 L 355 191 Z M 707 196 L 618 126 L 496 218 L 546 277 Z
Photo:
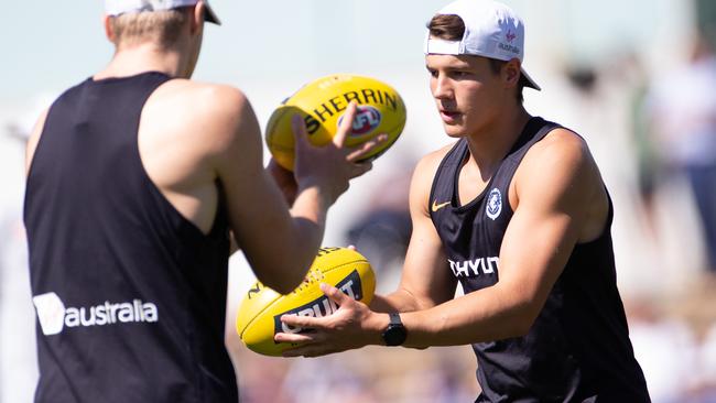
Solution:
M 188 78 L 187 56 L 172 48 L 161 50 L 152 43 L 142 43 L 117 50 L 107 67 L 95 79 L 129 77 L 145 72 L 160 72 L 172 77 Z

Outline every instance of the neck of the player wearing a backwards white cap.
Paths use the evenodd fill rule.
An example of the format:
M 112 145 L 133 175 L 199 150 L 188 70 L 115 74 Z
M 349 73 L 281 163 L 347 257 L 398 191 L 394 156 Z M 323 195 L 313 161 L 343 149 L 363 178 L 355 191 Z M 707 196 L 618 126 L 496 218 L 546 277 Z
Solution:
M 467 164 L 474 164 L 481 176 L 489 177 L 519 139 L 530 118 L 527 110 L 519 106 L 509 112 L 500 113 L 496 121 L 468 135 L 470 156 Z

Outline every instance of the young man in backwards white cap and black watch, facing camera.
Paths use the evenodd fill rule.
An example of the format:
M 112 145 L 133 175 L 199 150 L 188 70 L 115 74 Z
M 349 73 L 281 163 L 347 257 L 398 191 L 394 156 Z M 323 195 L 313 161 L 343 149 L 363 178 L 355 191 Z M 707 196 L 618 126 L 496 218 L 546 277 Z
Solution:
M 524 26 L 508 7 L 458 0 L 428 24 L 425 61 L 445 132 L 410 192 L 413 233 L 399 290 L 279 334 L 288 356 L 365 345 L 471 344 L 477 402 L 648 402 L 610 238 L 612 206 L 584 140 L 531 117 Z M 460 283 L 464 296 L 454 297 Z M 388 313 L 388 314 L 384 314 Z

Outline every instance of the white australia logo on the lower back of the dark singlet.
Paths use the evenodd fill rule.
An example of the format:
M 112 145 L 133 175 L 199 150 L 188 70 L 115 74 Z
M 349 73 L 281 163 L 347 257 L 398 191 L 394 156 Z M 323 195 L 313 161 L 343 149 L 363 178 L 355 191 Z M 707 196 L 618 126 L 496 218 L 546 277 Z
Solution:
M 37 311 L 40 327 L 45 336 L 57 335 L 65 327 L 90 327 L 126 323 L 154 323 L 159 312 L 153 303 L 141 299 L 110 303 L 89 307 L 66 307 L 55 293 L 45 293 L 32 297 Z

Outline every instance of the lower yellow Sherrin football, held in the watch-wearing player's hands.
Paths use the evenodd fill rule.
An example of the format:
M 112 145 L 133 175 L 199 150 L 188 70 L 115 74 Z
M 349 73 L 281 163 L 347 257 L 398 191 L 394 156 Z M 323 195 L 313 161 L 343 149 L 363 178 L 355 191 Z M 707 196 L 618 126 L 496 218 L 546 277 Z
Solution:
M 304 282 L 290 294 L 281 295 L 260 282 L 247 292 L 236 318 L 236 330 L 243 344 L 265 356 L 281 356 L 291 348 L 291 344 L 273 341 L 273 336 L 304 329 L 283 324 L 282 315 L 327 316 L 338 309 L 321 291 L 321 283 L 365 304 L 370 304 L 376 291 L 376 276 L 366 258 L 347 248 L 323 248 Z

